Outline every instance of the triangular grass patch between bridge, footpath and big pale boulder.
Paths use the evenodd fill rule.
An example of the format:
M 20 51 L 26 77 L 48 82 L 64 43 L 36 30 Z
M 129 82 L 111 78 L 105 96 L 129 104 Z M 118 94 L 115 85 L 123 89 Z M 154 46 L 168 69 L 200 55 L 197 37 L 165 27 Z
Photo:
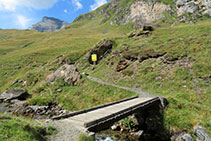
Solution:
M 42 91 L 35 93 L 29 103 L 45 105 L 53 101 L 67 110 L 76 111 L 137 95 L 134 92 L 92 82 L 85 76 L 81 81 L 81 86 L 68 86 L 62 79 L 58 79 L 53 85 L 46 83 L 38 88 Z M 57 92 L 59 88 L 62 88 L 61 93 Z

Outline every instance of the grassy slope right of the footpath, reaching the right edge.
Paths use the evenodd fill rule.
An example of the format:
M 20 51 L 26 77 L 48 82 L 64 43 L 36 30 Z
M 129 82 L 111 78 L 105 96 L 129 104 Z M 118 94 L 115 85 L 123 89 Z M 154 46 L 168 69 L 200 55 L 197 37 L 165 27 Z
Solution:
M 210 20 L 156 29 L 150 37 L 116 38 L 112 53 L 94 72 L 91 68 L 87 72 L 105 81 L 141 87 L 151 94 L 167 97 L 170 102 L 165 116 L 168 127 L 191 132 L 194 125 L 201 124 L 211 133 L 210 39 Z M 129 61 L 126 70 L 115 71 L 125 55 L 144 57 L 163 53 L 165 56 L 157 59 Z M 170 61 L 172 59 L 176 61 Z

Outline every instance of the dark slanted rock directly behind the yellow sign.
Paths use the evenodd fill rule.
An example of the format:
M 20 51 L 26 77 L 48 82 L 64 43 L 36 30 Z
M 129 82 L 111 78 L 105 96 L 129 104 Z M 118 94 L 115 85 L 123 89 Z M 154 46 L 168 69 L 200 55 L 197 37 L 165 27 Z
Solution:
M 109 54 L 112 50 L 113 42 L 111 40 L 104 39 L 97 43 L 94 48 L 89 52 L 88 58 L 90 64 L 92 64 L 91 55 L 97 54 L 98 62 L 104 58 L 107 54 Z

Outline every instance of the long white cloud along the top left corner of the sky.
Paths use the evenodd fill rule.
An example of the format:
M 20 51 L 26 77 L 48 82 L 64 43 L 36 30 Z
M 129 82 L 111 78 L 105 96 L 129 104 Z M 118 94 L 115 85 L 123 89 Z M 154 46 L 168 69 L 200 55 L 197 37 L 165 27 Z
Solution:
M 18 7 L 51 8 L 58 0 L 0 0 L 0 10 L 15 11 Z

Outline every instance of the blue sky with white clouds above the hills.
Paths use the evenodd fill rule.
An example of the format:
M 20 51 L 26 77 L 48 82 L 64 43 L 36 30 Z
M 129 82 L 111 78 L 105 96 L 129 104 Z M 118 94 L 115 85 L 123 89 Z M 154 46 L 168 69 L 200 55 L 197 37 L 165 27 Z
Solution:
M 109 0 L 0 0 L 0 28 L 27 29 L 43 16 L 71 23 Z

